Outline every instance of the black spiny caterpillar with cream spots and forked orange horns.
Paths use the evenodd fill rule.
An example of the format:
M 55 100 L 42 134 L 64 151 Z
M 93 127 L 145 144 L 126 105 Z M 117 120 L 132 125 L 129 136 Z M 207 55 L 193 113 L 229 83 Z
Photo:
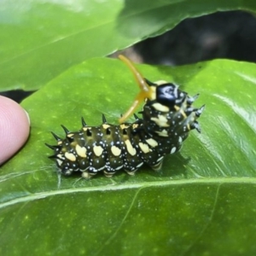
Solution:
M 201 132 L 196 119 L 204 106 L 192 106 L 198 94 L 188 96 L 175 84 L 143 79 L 131 61 L 123 55 L 119 58 L 131 68 L 141 91 L 119 119 L 121 125 L 108 124 L 103 115 L 99 126 L 88 126 L 82 118 L 80 131 L 68 131 L 61 125 L 66 132 L 63 140 L 52 132 L 57 145 L 46 144 L 55 151 L 49 158 L 56 160 L 64 175 L 79 171 L 82 177 L 89 178 L 103 171 L 105 176 L 112 177 L 120 169 L 133 175 L 143 163 L 159 171 L 164 156 L 177 152 L 190 130 Z M 142 101 L 143 119 L 135 115 L 134 123 L 125 123 Z

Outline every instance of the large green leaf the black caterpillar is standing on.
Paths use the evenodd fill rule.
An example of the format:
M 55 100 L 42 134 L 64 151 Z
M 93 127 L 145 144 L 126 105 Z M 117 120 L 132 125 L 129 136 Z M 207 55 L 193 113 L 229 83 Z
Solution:
M 58 177 L 44 142 L 59 125 L 80 128 L 105 113 L 113 123 L 137 85 L 120 61 L 94 59 L 69 69 L 22 103 L 28 143 L 1 169 L 3 255 L 253 255 L 256 253 L 256 65 L 208 61 L 186 67 L 138 66 L 207 104 L 202 133 L 191 132 L 163 170 L 145 166 L 90 181 Z

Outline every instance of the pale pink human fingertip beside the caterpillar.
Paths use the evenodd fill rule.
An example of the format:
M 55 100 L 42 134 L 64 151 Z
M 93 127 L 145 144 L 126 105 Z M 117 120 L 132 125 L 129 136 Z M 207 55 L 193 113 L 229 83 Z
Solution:
M 26 143 L 29 131 L 30 120 L 25 110 L 0 96 L 0 166 Z

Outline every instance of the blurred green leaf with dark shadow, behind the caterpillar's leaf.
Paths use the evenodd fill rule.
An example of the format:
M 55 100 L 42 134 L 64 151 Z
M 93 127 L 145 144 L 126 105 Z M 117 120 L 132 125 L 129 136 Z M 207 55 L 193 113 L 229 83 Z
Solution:
M 0 90 L 35 90 L 67 67 L 123 49 L 188 17 L 256 10 L 253 0 L 0 2 Z

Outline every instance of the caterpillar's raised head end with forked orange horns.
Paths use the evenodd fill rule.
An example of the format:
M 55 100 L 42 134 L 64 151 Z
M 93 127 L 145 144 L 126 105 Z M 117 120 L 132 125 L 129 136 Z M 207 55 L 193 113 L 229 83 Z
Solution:
M 176 137 L 177 134 L 183 132 L 184 137 L 187 137 L 189 130 L 201 131 L 196 119 L 200 117 L 204 106 L 192 107 L 192 103 L 199 95 L 188 96 L 185 91 L 179 90 L 176 84 L 166 81 L 152 83 L 148 79 L 144 79 L 125 56 L 120 55 L 119 59 L 131 69 L 140 88 L 131 108 L 119 119 L 120 123 L 129 118 L 138 105 L 145 101 L 143 122 L 148 133 L 157 134 L 160 137 L 172 135 Z

